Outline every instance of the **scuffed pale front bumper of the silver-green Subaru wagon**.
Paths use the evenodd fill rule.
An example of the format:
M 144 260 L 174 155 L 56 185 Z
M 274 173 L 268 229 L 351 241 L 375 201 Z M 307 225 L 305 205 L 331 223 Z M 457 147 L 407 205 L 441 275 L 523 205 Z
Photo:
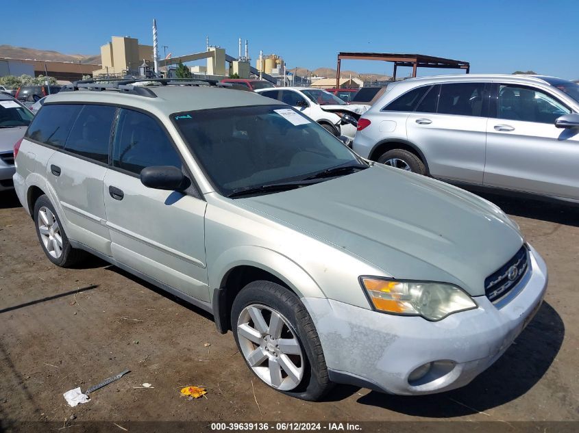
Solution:
M 330 378 L 386 393 L 417 395 L 465 386 L 500 358 L 537 312 L 547 289 L 547 267 L 531 248 L 524 287 L 497 308 L 485 296 L 478 309 L 440 322 L 377 313 L 334 300 L 304 298 L 314 319 Z M 361 289 L 360 289 L 361 290 Z M 441 361 L 409 383 L 421 365 Z

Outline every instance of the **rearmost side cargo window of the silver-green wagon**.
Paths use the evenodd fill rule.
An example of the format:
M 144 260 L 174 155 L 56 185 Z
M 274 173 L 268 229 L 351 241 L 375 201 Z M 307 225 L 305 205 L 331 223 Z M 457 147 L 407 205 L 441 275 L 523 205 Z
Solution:
M 81 109 L 76 104 L 45 105 L 32 120 L 26 138 L 63 148 Z

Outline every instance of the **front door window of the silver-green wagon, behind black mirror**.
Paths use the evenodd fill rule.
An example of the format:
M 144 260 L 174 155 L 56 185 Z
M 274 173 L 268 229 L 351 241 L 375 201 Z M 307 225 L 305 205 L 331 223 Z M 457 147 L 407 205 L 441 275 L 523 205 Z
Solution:
M 134 174 L 151 166 L 182 168 L 179 153 L 157 120 L 130 109 L 121 109 L 114 134 L 112 165 Z

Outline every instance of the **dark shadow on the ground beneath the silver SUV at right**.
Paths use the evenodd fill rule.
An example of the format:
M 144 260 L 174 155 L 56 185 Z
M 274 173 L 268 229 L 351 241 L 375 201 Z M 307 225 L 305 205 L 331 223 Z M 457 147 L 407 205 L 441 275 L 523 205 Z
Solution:
M 488 191 L 465 188 L 485 200 L 493 202 L 509 215 L 579 227 L 579 206 L 550 199 L 540 200 L 523 195 L 493 194 Z

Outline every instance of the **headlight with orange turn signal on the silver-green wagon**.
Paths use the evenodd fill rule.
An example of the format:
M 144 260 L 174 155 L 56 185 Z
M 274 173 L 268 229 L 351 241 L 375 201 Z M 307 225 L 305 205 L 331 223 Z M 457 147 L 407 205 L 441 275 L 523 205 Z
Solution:
M 476 308 L 473 299 L 447 283 L 396 281 L 361 276 L 360 282 L 377 311 L 398 315 L 420 315 L 441 320 L 447 315 Z

